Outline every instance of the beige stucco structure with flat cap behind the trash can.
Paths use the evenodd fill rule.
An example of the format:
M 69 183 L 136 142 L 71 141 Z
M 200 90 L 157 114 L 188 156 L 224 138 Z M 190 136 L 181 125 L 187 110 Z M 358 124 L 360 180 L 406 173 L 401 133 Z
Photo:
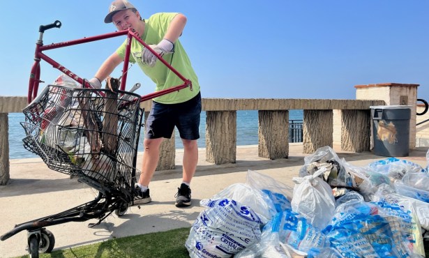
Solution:
M 389 82 L 381 84 L 356 85 L 354 87 L 356 88 L 356 100 L 384 100 L 386 105 L 412 106 L 411 119 L 409 121 L 409 149 L 415 149 L 418 86 L 419 84 L 400 84 Z

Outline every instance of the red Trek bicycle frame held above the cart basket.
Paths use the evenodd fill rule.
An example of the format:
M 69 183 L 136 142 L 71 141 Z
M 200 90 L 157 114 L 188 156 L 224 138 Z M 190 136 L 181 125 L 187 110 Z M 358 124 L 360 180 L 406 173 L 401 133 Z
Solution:
M 179 91 L 180 89 L 184 89 L 188 86 L 192 90 L 192 82 L 190 82 L 189 79 L 186 79 L 185 77 L 183 77 L 176 69 L 174 69 L 172 66 L 170 66 L 170 63 L 167 63 L 167 61 L 165 61 L 158 53 L 156 53 L 154 50 L 152 50 L 151 47 L 149 47 L 149 45 L 144 43 L 143 40 L 141 40 L 139 37 L 135 36 L 135 33 L 133 33 L 133 31 L 130 31 L 130 30 L 116 31 L 116 32 L 112 32 L 112 33 L 105 33 L 105 34 L 98 35 L 98 36 L 91 36 L 88 38 L 70 40 L 70 41 L 65 41 L 65 42 L 61 42 L 61 43 L 52 43 L 51 45 L 43 45 L 43 33 L 47 29 L 59 28 L 59 27 L 61 27 L 61 22 L 58 20 L 52 24 L 42 25 L 39 27 L 40 36 L 36 42 L 36 52 L 34 54 L 34 63 L 33 63 L 33 66 L 31 67 L 31 73 L 30 73 L 30 79 L 29 79 L 29 92 L 28 92 L 28 96 L 27 96 L 28 103 L 31 103 L 31 101 L 33 101 L 33 99 L 36 98 L 39 83 L 42 82 L 42 81 L 40 81 L 40 61 L 41 60 L 46 61 L 47 63 L 52 65 L 53 68 L 60 70 L 62 73 L 65 73 L 66 75 L 68 75 L 70 78 L 74 79 L 79 84 L 84 85 L 85 88 L 92 88 L 91 84 L 89 84 L 87 79 L 83 79 L 82 77 L 76 75 L 75 73 L 73 73 L 68 68 L 62 66 L 57 61 L 54 61 L 53 59 L 51 59 L 46 54 L 43 54 L 43 51 L 54 50 L 54 49 L 61 48 L 61 47 L 68 47 L 71 45 L 89 43 L 92 41 L 104 40 L 107 38 L 114 38 L 117 36 L 125 36 L 125 35 L 127 36 L 127 41 L 126 41 L 127 44 L 126 44 L 125 58 L 123 60 L 121 86 L 119 87 L 119 89 L 121 91 L 125 91 L 125 88 L 126 88 L 128 62 L 130 61 L 131 40 L 133 38 L 135 38 L 135 40 L 137 40 L 140 44 L 142 44 L 144 47 L 146 47 L 148 50 L 150 50 L 153 54 L 155 54 L 156 57 L 161 62 L 163 62 L 165 66 L 167 66 L 167 68 L 169 68 L 175 75 L 177 75 L 183 81 L 183 84 L 180 84 L 178 86 L 174 86 L 174 87 L 171 87 L 169 89 L 165 89 L 163 91 L 156 91 L 154 93 L 150 93 L 150 94 L 147 94 L 145 96 L 142 96 L 142 98 L 140 100 L 141 102 L 146 101 L 146 100 L 150 100 L 151 98 L 156 98 L 158 96 L 163 96 L 163 95 L 170 93 L 170 92 L 173 92 L 173 91 Z

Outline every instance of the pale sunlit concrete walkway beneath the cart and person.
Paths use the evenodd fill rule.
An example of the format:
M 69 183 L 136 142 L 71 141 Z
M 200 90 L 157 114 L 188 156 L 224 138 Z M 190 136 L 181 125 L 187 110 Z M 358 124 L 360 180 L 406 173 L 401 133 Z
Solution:
M 340 158 L 352 165 L 364 166 L 386 157 L 370 152 L 348 153 L 333 148 Z M 401 158 L 426 167 L 427 149 L 416 149 L 409 157 Z M 257 156 L 257 146 L 239 146 L 235 164 L 213 165 L 205 161 L 204 149 L 200 150 L 197 174 L 191 183 L 193 205 L 176 208 L 174 195 L 181 183 L 183 151 L 176 151 L 176 169 L 156 172 L 149 186 L 152 202 L 137 208 L 131 207 L 126 215 L 110 215 L 100 225 L 88 228 L 90 222 L 67 222 L 47 227 L 55 236 L 55 248 L 66 249 L 87 245 L 110 238 L 162 232 L 180 227 L 190 227 L 204 209 L 201 199 L 209 198 L 233 183 L 244 183 L 248 169 L 266 174 L 293 188 L 292 178 L 298 176 L 304 164 L 302 144 L 290 144 L 289 158 L 266 160 Z M 399 158 L 399 157 L 398 157 Z M 138 158 L 137 168 L 141 167 Z M 0 235 L 13 229 L 15 224 L 43 218 L 66 211 L 91 201 L 98 192 L 87 185 L 70 179 L 70 176 L 48 169 L 39 158 L 10 160 L 10 183 L 0 186 L 0 207 L 3 218 Z M 24 230 L 6 241 L 0 241 L 0 257 L 26 255 L 27 231 Z M 184 245 L 184 243 L 183 243 Z

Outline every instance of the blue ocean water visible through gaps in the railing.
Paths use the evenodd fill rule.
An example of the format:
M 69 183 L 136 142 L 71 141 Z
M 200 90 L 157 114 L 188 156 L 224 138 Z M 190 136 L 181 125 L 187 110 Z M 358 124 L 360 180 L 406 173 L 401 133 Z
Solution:
M 37 158 L 38 156 L 24 149 L 22 139 L 25 137 L 24 129 L 21 122 L 24 121 L 24 114 L 11 113 L 8 115 L 9 119 L 9 158 Z M 303 110 L 293 109 L 289 110 L 290 120 L 303 120 Z M 142 128 L 143 129 L 143 128 Z M 236 139 L 237 145 L 254 145 L 258 142 L 258 118 L 257 110 L 239 110 L 237 111 L 237 126 L 236 126 Z M 176 130 L 176 149 L 183 149 L 183 144 L 179 137 L 179 132 Z M 138 151 L 143 151 L 143 130 L 141 130 L 140 144 Z M 198 147 L 204 148 L 206 146 L 206 112 L 201 113 L 200 122 L 200 139 L 198 139 Z

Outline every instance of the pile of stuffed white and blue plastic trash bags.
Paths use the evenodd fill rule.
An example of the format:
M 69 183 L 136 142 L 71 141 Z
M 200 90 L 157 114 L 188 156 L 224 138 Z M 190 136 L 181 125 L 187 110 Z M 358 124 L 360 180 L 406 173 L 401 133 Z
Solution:
M 427 167 L 398 158 L 356 167 L 325 146 L 293 181 L 249 170 L 246 183 L 202 199 L 190 257 L 425 257 Z

